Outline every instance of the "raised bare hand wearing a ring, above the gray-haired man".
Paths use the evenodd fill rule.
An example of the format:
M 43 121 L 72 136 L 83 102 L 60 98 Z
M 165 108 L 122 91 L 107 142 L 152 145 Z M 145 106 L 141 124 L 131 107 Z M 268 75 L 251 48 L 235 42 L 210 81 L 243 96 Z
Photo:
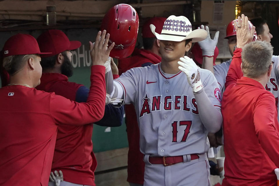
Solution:
M 237 22 L 233 21 L 236 30 L 237 48 L 244 47 L 245 44 L 252 42 L 255 33 L 255 26 L 249 28 L 248 17 L 244 14 L 237 17 Z

